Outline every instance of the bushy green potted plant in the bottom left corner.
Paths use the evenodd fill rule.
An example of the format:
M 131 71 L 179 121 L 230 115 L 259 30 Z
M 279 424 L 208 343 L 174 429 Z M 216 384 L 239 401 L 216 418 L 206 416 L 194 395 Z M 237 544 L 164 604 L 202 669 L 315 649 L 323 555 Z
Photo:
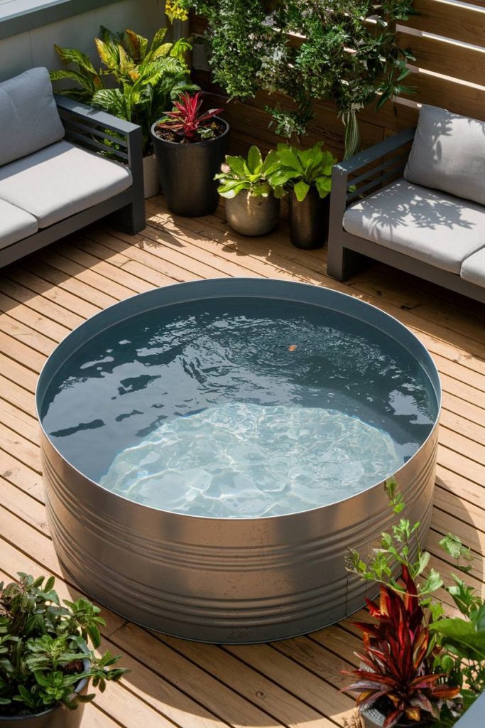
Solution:
M 0 583 L 0 728 L 77 728 L 89 682 L 126 672 L 119 657 L 97 657 L 100 609 L 79 598 L 63 601 L 55 579 L 19 574 L 20 582 Z

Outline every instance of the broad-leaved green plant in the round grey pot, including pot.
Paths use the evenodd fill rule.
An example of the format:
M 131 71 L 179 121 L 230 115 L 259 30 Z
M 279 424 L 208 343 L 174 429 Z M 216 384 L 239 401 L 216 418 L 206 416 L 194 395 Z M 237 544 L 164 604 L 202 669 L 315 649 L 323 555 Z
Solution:
M 243 235 L 264 235 L 279 217 L 281 186 L 273 187 L 271 174 L 278 170 L 276 151 L 265 159 L 257 146 L 244 157 L 226 157 L 228 169 L 215 175 L 217 191 L 225 198 L 225 214 L 233 230 Z

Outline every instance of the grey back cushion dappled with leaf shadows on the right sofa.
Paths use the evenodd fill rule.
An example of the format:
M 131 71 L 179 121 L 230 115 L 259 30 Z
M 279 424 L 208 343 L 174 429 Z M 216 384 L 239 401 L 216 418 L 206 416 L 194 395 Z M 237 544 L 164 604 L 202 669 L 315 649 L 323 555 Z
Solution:
M 485 205 L 485 122 L 421 107 L 404 179 Z

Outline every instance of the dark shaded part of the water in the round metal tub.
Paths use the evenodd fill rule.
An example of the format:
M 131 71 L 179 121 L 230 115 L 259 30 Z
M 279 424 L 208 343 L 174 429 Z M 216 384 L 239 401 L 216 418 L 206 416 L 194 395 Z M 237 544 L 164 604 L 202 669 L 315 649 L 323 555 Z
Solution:
M 300 408 L 316 436 L 311 409 L 358 418 L 388 433 L 401 462 L 425 440 L 437 408 L 420 366 L 371 326 L 315 306 L 220 299 L 148 312 L 96 336 L 57 373 L 41 416 L 61 453 L 99 481 L 127 448 L 183 431 L 175 420 L 197 422 L 207 408 L 233 403 L 268 416 Z M 322 483 L 329 472 L 322 461 Z M 179 482 L 173 475 L 174 489 Z

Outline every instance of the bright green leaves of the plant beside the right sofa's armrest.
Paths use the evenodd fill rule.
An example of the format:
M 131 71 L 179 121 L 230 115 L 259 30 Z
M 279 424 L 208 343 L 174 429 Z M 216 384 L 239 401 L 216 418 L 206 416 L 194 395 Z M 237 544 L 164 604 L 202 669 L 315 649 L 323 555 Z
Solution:
M 305 199 L 312 186 L 321 199 L 326 197 L 332 189 L 332 168 L 337 159 L 322 146 L 323 143 L 318 142 L 310 149 L 302 150 L 289 144 L 278 144 L 278 167 L 270 174 L 272 186 L 292 189 L 298 202 Z

